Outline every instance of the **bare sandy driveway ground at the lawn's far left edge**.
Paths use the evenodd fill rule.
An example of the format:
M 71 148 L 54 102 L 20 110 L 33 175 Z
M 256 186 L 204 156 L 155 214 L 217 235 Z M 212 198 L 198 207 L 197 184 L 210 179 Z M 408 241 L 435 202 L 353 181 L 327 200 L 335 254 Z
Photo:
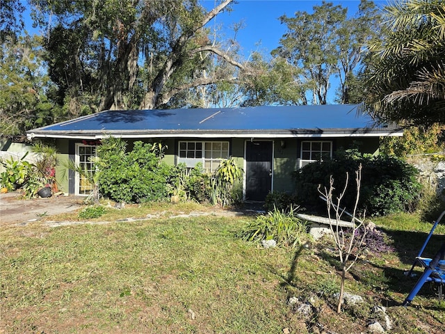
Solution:
M 44 216 L 64 214 L 81 208 L 81 196 L 51 196 L 24 199 L 17 191 L 0 195 L 0 226 L 38 221 Z

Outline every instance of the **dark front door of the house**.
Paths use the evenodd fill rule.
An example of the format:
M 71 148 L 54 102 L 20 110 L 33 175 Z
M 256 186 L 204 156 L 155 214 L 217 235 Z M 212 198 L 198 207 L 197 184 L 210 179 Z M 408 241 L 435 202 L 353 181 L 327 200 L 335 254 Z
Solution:
M 246 141 L 245 200 L 263 201 L 272 190 L 271 141 Z

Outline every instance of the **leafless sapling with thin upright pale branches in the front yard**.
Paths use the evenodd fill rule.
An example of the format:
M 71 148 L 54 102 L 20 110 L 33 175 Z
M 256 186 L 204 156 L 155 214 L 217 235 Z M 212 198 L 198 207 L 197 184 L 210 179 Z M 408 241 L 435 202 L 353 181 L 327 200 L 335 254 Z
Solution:
M 357 193 L 355 196 L 355 203 L 353 213 L 346 212 L 341 208 L 341 200 L 345 196 L 346 189 L 348 188 L 349 175 L 346 172 L 346 183 L 343 191 L 338 197 L 334 196 L 334 179 L 330 176 L 329 189 L 324 187 L 321 190 L 321 185 L 318 186 L 318 192 L 321 193 L 321 197 L 327 203 L 327 214 L 329 218 L 330 230 L 334 236 L 335 246 L 339 253 L 341 264 L 341 283 L 339 302 L 337 304 L 337 313 L 341 312 L 341 305 L 343 303 L 343 293 L 345 287 L 346 273 L 353 267 L 359 257 L 359 253 L 363 250 L 364 237 L 366 235 L 366 228 L 364 226 L 364 213 L 360 218 L 357 218 L 357 207 L 360 196 L 360 184 L 362 181 L 362 164 L 360 164 L 358 170 L 355 171 L 355 182 L 357 184 Z M 350 223 L 352 231 L 350 233 L 345 231 L 343 223 L 341 222 L 343 214 L 350 217 Z

